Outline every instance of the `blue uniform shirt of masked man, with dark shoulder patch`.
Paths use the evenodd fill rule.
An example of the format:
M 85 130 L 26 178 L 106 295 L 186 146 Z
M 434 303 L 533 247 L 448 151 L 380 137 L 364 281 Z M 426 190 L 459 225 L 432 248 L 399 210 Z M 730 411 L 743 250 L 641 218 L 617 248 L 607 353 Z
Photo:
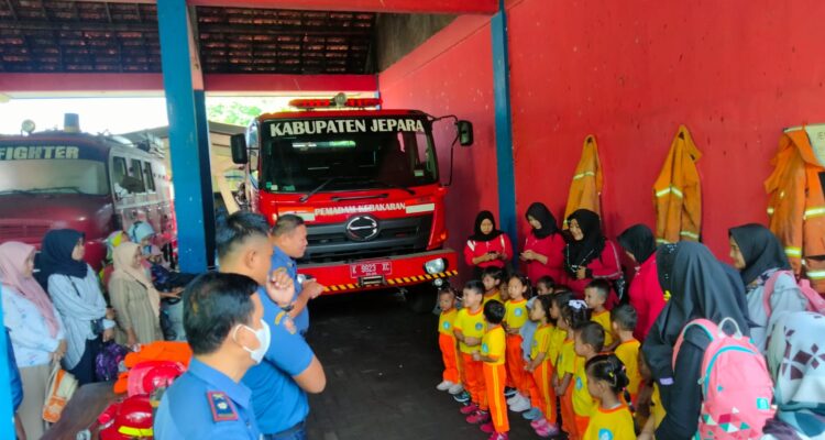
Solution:
M 251 394 L 243 384 L 193 359 L 161 399 L 155 440 L 258 440 Z

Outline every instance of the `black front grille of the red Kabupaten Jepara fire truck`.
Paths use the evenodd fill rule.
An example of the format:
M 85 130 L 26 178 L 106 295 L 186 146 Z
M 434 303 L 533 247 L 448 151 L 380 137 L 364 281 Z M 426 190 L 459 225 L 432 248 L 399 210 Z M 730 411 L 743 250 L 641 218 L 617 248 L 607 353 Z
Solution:
M 307 228 L 307 252 L 298 262 L 350 262 L 422 252 L 431 231 L 431 215 L 378 220 L 378 233 L 367 241 L 353 239 L 346 232 L 346 222 L 311 224 Z

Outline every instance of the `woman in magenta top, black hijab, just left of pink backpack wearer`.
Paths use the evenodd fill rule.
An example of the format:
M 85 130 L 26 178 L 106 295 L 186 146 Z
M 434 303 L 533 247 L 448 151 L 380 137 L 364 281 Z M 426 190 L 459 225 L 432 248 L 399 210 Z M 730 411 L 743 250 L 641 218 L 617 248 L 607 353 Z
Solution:
M 636 263 L 636 276 L 627 294 L 638 317 L 634 336 L 644 341 L 666 304 L 656 266 L 656 238 L 650 228 L 634 224 L 619 234 L 618 242 Z

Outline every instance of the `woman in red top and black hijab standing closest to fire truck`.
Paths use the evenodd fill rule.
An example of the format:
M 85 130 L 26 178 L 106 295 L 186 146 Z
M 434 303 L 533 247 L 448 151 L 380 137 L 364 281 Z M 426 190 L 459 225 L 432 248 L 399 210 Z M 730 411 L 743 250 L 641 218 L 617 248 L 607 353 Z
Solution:
M 475 217 L 475 228 L 464 246 L 464 261 L 473 267 L 473 277 L 481 279 L 485 267 L 504 268 L 513 257 L 513 245 L 506 233 L 496 229 L 493 212 L 481 211 Z

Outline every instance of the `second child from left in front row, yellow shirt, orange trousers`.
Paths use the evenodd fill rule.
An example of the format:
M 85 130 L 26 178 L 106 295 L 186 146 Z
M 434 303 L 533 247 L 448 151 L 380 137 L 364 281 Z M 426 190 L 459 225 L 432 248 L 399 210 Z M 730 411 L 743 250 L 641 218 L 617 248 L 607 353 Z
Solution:
M 485 422 L 487 414 L 487 398 L 484 392 L 484 372 L 482 363 L 473 360 L 473 353 L 481 346 L 484 336 L 484 315 L 482 300 L 484 285 L 477 280 L 468 282 L 464 286 L 464 308 L 459 310 L 453 322 L 453 334 L 459 340 L 461 351 L 461 373 L 464 389 L 470 393 L 471 403 L 461 408 L 461 414 L 468 416 L 470 424 Z

